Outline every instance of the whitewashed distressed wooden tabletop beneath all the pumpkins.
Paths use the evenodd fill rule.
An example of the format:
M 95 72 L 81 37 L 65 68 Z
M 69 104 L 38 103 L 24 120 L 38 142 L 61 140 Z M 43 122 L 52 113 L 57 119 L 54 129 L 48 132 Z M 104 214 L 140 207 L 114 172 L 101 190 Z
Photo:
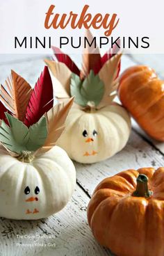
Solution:
M 13 69 L 34 86 L 44 67 L 43 58 L 0 55 L 0 83 Z M 122 70 L 136 63 L 151 65 L 161 78 L 164 76 L 163 56 L 123 56 Z M 99 246 L 88 227 L 86 207 L 92 191 L 102 179 L 121 170 L 164 166 L 164 143 L 151 140 L 133 121 L 131 136 L 124 150 L 101 163 L 75 163 L 75 166 L 76 190 L 63 211 L 40 221 L 0 218 L 0 256 L 111 255 L 109 250 Z

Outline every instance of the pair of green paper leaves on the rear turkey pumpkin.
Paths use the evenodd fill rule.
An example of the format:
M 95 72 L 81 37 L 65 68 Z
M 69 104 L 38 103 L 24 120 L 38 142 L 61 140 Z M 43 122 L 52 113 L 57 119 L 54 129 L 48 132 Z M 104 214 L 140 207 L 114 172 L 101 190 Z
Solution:
M 94 102 L 97 106 L 104 96 L 104 90 L 103 81 L 92 70 L 83 81 L 79 76 L 72 73 L 70 92 L 75 97 L 76 104 L 87 106 L 88 102 Z

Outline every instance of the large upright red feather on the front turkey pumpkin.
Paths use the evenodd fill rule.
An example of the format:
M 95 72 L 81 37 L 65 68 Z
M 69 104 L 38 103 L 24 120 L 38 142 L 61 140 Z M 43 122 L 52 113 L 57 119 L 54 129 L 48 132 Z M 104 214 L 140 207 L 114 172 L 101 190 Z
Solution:
M 45 112 L 53 107 L 53 86 L 48 67 L 40 75 L 28 102 L 24 124 L 29 127 L 38 122 Z

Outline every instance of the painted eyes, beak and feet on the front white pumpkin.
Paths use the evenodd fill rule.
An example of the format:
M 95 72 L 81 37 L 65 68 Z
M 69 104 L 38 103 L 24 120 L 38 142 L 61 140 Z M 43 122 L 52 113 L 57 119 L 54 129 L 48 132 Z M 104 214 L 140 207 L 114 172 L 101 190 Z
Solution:
M 26 188 L 24 189 L 24 193 L 25 195 L 27 195 L 28 197 L 26 198 L 25 202 L 28 203 L 27 208 L 31 209 L 31 205 L 29 205 L 29 203 L 31 204 L 31 202 L 35 203 L 35 205 L 33 204 L 32 207 L 34 206 L 34 209 L 31 211 L 30 209 L 26 209 L 26 214 L 38 214 L 39 210 L 37 208 L 37 202 L 38 202 L 38 195 L 40 193 L 40 189 L 38 186 L 35 187 L 34 191 L 31 191 L 29 186 L 26 186 Z M 36 206 L 36 207 L 35 207 Z

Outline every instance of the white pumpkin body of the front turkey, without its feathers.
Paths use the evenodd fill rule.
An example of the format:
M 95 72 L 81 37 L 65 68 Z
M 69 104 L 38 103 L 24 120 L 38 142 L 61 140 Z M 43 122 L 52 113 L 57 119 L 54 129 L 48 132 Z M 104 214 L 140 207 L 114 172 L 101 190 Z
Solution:
M 30 163 L 0 150 L 0 216 L 38 219 L 65 207 L 76 184 L 74 164 L 58 146 Z

